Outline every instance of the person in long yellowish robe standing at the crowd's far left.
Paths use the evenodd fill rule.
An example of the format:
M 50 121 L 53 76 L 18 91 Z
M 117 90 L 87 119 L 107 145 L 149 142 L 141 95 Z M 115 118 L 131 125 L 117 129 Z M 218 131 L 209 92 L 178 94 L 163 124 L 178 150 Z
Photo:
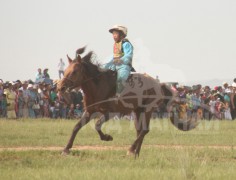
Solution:
M 8 83 L 8 88 L 4 90 L 4 94 L 6 94 L 7 98 L 7 117 L 10 119 L 16 118 L 16 112 L 15 112 L 15 100 L 16 100 L 16 94 L 13 90 L 12 82 Z

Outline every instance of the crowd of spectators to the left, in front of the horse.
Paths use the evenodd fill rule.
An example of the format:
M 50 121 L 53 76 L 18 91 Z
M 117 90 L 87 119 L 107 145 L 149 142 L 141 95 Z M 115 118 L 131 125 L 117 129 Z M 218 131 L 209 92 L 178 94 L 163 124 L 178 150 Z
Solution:
M 71 96 L 73 103 L 68 106 L 57 92 L 56 83 L 0 80 L 0 117 L 79 118 L 83 111 L 83 94 L 79 89 L 74 89 Z

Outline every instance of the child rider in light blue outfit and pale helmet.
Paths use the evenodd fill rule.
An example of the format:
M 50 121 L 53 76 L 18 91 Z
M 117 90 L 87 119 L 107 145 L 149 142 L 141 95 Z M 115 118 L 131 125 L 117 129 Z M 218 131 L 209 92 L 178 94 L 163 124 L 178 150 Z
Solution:
M 114 25 L 109 32 L 112 33 L 115 41 L 113 56 L 105 65 L 105 69 L 117 71 L 116 95 L 119 96 L 124 88 L 124 83 L 128 79 L 132 68 L 133 46 L 125 37 L 127 28 L 121 25 Z

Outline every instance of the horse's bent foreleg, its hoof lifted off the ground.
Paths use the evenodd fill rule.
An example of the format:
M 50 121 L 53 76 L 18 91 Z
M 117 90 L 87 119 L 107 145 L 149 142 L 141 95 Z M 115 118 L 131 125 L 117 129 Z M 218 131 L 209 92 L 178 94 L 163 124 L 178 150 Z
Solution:
M 103 141 L 112 141 L 113 140 L 113 137 L 111 135 L 104 134 L 101 130 L 103 123 L 108 120 L 109 120 L 109 115 L 108 115 L 108 113 L 106 113 L 105 115 L 101 116 L 95 124 L 95 129 L 97 130 L 97 132 L 100 136 L 100 139 Z

